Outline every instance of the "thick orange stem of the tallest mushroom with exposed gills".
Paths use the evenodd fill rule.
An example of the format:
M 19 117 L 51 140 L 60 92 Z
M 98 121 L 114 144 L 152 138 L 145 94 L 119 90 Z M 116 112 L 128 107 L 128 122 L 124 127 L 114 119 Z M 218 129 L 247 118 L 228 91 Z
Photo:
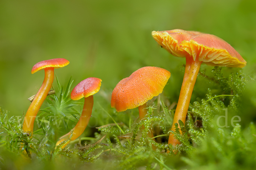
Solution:
M 175 123 L 179 124 L 179 120 L 185 125 L 186 114 L 189 109 L 189 103 L 192 95 L 192 91 L 195 85 L 195 81 L 201 66 L 201 61 L 198 61 L 198 57 L 195 59 L 192 57 L 186 57 L 186 68 L 183 78 L 183 83 L 180 90 L 180 97 L 175 111 L 175 115 L 172 122 L 172 129 L 175 131 Z M 180 125 L 179 125 L 180 128 Z M 181 131 L 180 131 L 181 133 Z M 174 134 L 170 133 L 168 144 L 176 145 L 180 142 L 174 137 Z

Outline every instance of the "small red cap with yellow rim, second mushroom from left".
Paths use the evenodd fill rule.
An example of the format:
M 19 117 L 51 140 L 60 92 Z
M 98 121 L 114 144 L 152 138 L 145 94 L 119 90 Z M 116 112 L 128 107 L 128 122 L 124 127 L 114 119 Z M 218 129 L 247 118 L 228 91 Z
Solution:
M 71 91 L 71 99 L 79 100 L 96 94 L 101 86 L 101 79 L 89 77 L 79 82 L 78 85 Z

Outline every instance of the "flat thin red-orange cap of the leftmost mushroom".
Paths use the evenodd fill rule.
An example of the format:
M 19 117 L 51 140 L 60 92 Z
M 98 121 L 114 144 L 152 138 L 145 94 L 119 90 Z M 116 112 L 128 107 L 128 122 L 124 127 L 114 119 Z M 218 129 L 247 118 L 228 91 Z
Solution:
M 63 59 L 63 58 L 48 59 L 48 60 L 36 63 L 33 66 L 31 73 L 34 74 L 35 72 L 42 70 L 44 68 L 47 68 L 47 67 L 60 68 L 60 67 L 66 66 L 68 64 L 69 64 L 69 61 L 67 59 Z

